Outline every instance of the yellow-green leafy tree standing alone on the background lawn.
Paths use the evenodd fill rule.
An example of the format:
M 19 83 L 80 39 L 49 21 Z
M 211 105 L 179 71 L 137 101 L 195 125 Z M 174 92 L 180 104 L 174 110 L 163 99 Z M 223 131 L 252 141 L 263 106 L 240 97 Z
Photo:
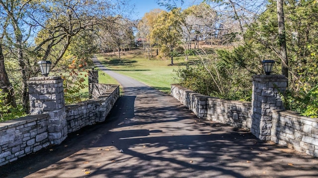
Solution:
M 171 65 L 173 65 L 174 48 L 181 38 L 180 9 L 172 9 L 170 12 L 162 11 L 156 18 L 154 29 L 151 33 L 151 41 L 158 41 L 163 52 L 169 52 Z

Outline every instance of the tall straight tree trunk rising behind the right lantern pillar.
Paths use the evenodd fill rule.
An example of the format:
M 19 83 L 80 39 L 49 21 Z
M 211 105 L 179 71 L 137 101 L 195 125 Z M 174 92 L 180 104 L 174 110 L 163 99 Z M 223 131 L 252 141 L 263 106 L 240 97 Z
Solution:
M 288 78 L 288 56 L 286 47 L 286 32 L 284 21 L 283 0 L 277 0 L 278 38 L 282 60 L 282 75 Z

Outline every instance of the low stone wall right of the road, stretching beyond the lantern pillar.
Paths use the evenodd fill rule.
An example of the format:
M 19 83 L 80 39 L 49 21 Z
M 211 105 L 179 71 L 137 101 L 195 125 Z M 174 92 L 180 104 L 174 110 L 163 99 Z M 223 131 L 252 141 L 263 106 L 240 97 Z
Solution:
M 171 95 L 200 119 L 208 119 L 243 129 L 251 127 L 250 102 L 205 96 L 177 84 L 171 85 Z

